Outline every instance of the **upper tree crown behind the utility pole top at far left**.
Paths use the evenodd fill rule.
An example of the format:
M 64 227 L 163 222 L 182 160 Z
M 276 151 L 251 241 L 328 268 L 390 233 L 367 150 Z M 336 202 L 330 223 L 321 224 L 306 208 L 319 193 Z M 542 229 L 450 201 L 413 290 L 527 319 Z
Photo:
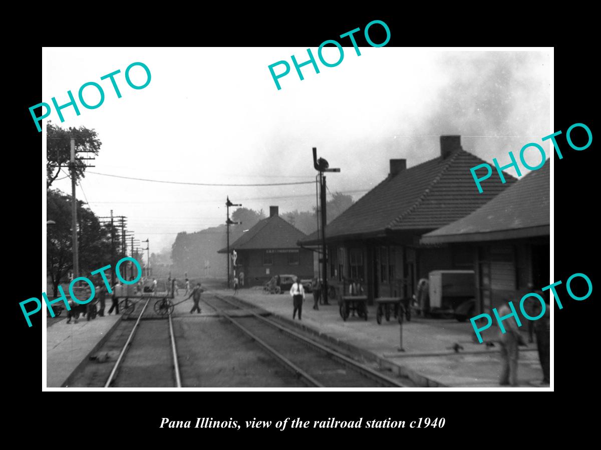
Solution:
M 97 139 L 97 133 L 94 130 L 88 130 L 85 127 L 64 128 L 53 125 L 48 122 L 46 125 L 46 188 L 50 188 L 52 183 L 58 177 L 61 169 L 68 169 L 71 160 L 71 138 L 75 138 L 76 152 L 91 152 L 97 155 L 102 145 Z M 84 178 L 84 161 L 75 161 L 76 179 Z

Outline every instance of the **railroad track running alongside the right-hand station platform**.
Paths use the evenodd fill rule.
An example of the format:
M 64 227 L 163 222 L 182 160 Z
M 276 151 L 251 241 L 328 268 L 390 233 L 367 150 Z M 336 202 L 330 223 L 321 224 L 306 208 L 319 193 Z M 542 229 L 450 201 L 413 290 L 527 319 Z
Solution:
M 407 387 L 400 380 L 373 370 L 337 350 L 326 347 L 253 310 L 215 294 L 210 294 L 210 296 L 225 304 L 225 307 L 219 307 L 216 302 L 209 301 L 207 299 L 209 295 L 203 298 L 207 305 L 260 344 L 282 365 L 293 371 L 307 386 L 317 388 Z M 245 315 L 230 314 L 226 307 L 234 307 L 235 310 L 243 311 Z

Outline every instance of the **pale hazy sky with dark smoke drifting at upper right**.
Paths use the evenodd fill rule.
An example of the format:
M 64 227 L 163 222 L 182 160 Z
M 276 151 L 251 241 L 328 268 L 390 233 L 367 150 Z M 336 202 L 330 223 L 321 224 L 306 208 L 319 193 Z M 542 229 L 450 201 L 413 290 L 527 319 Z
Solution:
M 326 61 L 336 61 L 338 50 L 327 50 Z M 438 156 L 441 134 L 461 134 L 466 151 L 508 163 L 508 151 L 517 157 L 523 145 L 542 144 L 555 131 L 549 126 L 551 50 L 360 50 L 356 56 L 344 47 L 337 67 L 324 67 L 318 59 L 320 73 L 307 65 L 301 81 L 290 55 L 305 61 L 306 47 L 45 48 L 41 101 L 51 104 L 56 97 L 58 104 L 67 103 L 68 90 L 77 98 L 79 87 L 90 81 L 103 87 L 99 108 L 85 109 L 77 100 L 80 116 L 68 107 L 63 124 L 55 111 L 48 118 L 97 131 L 102 148 L 90 172 L 218 184 L 313 181 L 315 146 L 331 167 L 341 168 L 328 175 L 329 190 L 355 199 L 385 178 L 389 159 L 406 158 L 411 167 Z M 278 91 L 267 66 L 281 59 L 292 67 L 279 79 Z M 135 90 L 124 71 L 138 61 L 152 78 Z M 118 69 L 121 98 L 109 80 L 100 80 Z M 140 67 L 131 76 L 138 85 L 145 80 Z M 99 94 L 86 88 L 84 98 L 95 104 Z M 548 151 L 548 145 L 543 148 Z M 526 160 L 540 161 L 535 151 Z M 203 187 L 93 173 L 81 184 L 79 199 L 87 199 L 97 215 L 111 209 L 126 215 L 136 238 L 150 238 L 151 251 L 170 248 L 177 232 L 224 223 L 227 195 L 266 212 L 270 205 L 285 212 L 315 204 L 314 184 Z M 68 178 L 53 187 L 70 193 Z

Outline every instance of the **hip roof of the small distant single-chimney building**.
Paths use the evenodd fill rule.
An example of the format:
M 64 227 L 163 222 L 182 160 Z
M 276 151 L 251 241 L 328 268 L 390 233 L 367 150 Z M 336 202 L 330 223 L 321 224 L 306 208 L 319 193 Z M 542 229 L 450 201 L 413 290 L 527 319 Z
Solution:
M 231 250 L 258 250 L 263 248 L 297 248 L 296 244 L 307 235 L 275 214 L 272 217 L 258 221 L 233 244 Z M 217 253 L 227 253 L 222 248 Z

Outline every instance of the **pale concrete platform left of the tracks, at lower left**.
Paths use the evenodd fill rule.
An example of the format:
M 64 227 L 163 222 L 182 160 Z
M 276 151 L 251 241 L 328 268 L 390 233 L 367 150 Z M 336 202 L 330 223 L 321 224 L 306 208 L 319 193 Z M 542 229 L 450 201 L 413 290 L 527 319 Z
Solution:
M 121 316 L 67 319 L 46 328 L 46 386 L 60 388 L 70 374 L 94 352 L 117 325 Z

